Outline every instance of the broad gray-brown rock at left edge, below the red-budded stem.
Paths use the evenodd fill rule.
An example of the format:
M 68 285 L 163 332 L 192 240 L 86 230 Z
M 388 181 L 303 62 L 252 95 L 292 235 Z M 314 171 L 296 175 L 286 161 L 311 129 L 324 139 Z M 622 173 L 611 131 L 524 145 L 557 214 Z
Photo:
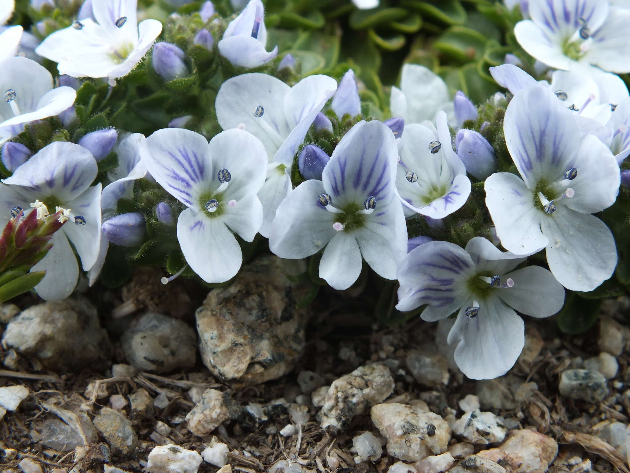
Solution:
M 96 308 L 83 297 L 29 307 L 6 326 L 3 345 L 58 373 L 109 366 L 112 352 Z

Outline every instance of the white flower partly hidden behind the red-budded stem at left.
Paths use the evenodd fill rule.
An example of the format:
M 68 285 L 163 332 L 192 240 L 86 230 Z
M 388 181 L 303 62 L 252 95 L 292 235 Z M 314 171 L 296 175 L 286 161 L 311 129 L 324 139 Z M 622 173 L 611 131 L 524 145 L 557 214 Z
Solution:
M 83 271 L 96 262 L 101 238 L 101 184 L 90 187 L 98 173 L 96 160 L 78 144 L 55 141 L 18 167 L 0 185 L 0 225 L 13 207 L 30 209 L 39 200 L 49 209 L 72 209 L 70 221 L 55 232 L 50 252 L 33 266 L 46 271 L 35 290 L 45 300 L 71 295 L 79 266 L 70 243 L 81 258 Z M 39 210 L 39 209 L 38 209 Z M 68 241 L 70 240 L 70 241 Z

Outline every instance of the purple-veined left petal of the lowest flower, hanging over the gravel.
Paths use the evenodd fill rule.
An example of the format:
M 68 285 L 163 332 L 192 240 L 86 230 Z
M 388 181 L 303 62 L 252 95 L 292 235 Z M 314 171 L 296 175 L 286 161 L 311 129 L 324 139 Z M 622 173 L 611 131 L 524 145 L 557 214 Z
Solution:
M 462 307 L 469 292 L 466 281 L 476 269 L 463 248 L 448 242 L 428 242 L 411 250 L 398 268 L 401 311 L 428 304 L 423 320 L 435 322 Z

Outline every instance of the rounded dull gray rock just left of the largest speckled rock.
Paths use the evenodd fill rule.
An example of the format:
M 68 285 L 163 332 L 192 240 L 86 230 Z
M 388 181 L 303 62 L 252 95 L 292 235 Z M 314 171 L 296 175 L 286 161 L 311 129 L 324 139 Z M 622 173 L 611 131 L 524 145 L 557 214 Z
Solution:
M 141 371 L 168 373 L 197 361 L 195 330 L 181 320 L 147 312 L 122 336 L 127 361 Z

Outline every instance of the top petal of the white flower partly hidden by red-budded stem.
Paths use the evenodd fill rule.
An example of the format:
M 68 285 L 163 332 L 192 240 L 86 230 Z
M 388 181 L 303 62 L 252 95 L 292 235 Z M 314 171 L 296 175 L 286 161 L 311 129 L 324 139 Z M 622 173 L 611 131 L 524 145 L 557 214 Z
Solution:
M 54 196 L 65 203 L 76 199 L 92 184 L 98 166 L 83 146 L 54 141 L 18 167 L 5 184 L 21 186 L 26 196 Z M 49 209 L 54 210 L 54 209 Z

